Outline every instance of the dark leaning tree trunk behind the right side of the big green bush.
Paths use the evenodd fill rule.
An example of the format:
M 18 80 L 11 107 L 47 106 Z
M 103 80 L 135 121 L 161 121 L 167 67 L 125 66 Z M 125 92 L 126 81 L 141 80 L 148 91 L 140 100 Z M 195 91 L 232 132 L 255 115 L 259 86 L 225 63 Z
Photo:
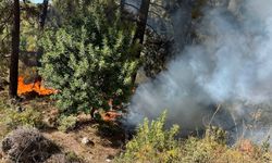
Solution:
M 139 9 L 139 12 L 138 12 L 138 21 L 137 21 L 136 32 L 135 32 L 135 36 L 133 38 L 134 43 L 138 42 L 141 46 L 144 43 L 149 7 L 150 7 L 150 0 L 141 0 L 140 9 Z M 140 58 L 140 52 L 141 52 L 141 48 L 139 48 L 136 51 L 135 57 L 139 59 Z M 137 72 L 135 74 L 133 74 L 133 76 L 132 76 L 133 85 L 135 84 L 136 76 L 137 76 Z

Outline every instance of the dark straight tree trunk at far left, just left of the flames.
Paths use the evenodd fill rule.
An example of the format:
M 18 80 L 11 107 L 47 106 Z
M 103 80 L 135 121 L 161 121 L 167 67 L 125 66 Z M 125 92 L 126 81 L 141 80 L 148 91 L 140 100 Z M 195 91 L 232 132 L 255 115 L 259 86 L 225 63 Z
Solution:
M 12 53 L 10 62 L 10 97 L 17 97 L 20 52 L 20 0 L 13 2 Z

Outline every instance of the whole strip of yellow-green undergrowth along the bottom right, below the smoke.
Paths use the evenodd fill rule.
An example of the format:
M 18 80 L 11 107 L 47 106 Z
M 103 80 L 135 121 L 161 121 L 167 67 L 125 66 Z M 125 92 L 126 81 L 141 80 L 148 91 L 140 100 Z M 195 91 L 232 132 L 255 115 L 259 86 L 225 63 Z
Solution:
M 165 113 L 151 123 L 145 120 L 135 137 L 128 141 L 116 163 L 265 163 L 272 162 L 269 141 L 262 146 L 240 139 L 230 147 L 226 131 L 208 127 L 202 138 L 175 139 L 178 126 L 164 129 Z

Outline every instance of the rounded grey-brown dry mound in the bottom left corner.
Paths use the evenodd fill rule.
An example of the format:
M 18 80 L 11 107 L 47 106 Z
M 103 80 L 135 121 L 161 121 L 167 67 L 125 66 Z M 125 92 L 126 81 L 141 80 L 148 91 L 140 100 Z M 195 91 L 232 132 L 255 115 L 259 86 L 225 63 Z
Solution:
M 44 162 L 59 148 L 45 138 L 38 129 L 21 127 L 2 140 L 2 151 L 14 162 Z

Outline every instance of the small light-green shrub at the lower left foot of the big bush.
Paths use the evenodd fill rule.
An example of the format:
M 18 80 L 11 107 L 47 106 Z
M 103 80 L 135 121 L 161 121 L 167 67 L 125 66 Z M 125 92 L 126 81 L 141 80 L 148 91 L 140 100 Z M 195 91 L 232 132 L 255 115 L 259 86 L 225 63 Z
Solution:
M 63 115 L 58 120 L 58 124 L 59 124 L 58 129 L 61 131 L 67 131 L 70 129 L 73 129 L 75 128 L 76 121 L 77 118 L 74 115 L 69 115 L 69 116 Z

